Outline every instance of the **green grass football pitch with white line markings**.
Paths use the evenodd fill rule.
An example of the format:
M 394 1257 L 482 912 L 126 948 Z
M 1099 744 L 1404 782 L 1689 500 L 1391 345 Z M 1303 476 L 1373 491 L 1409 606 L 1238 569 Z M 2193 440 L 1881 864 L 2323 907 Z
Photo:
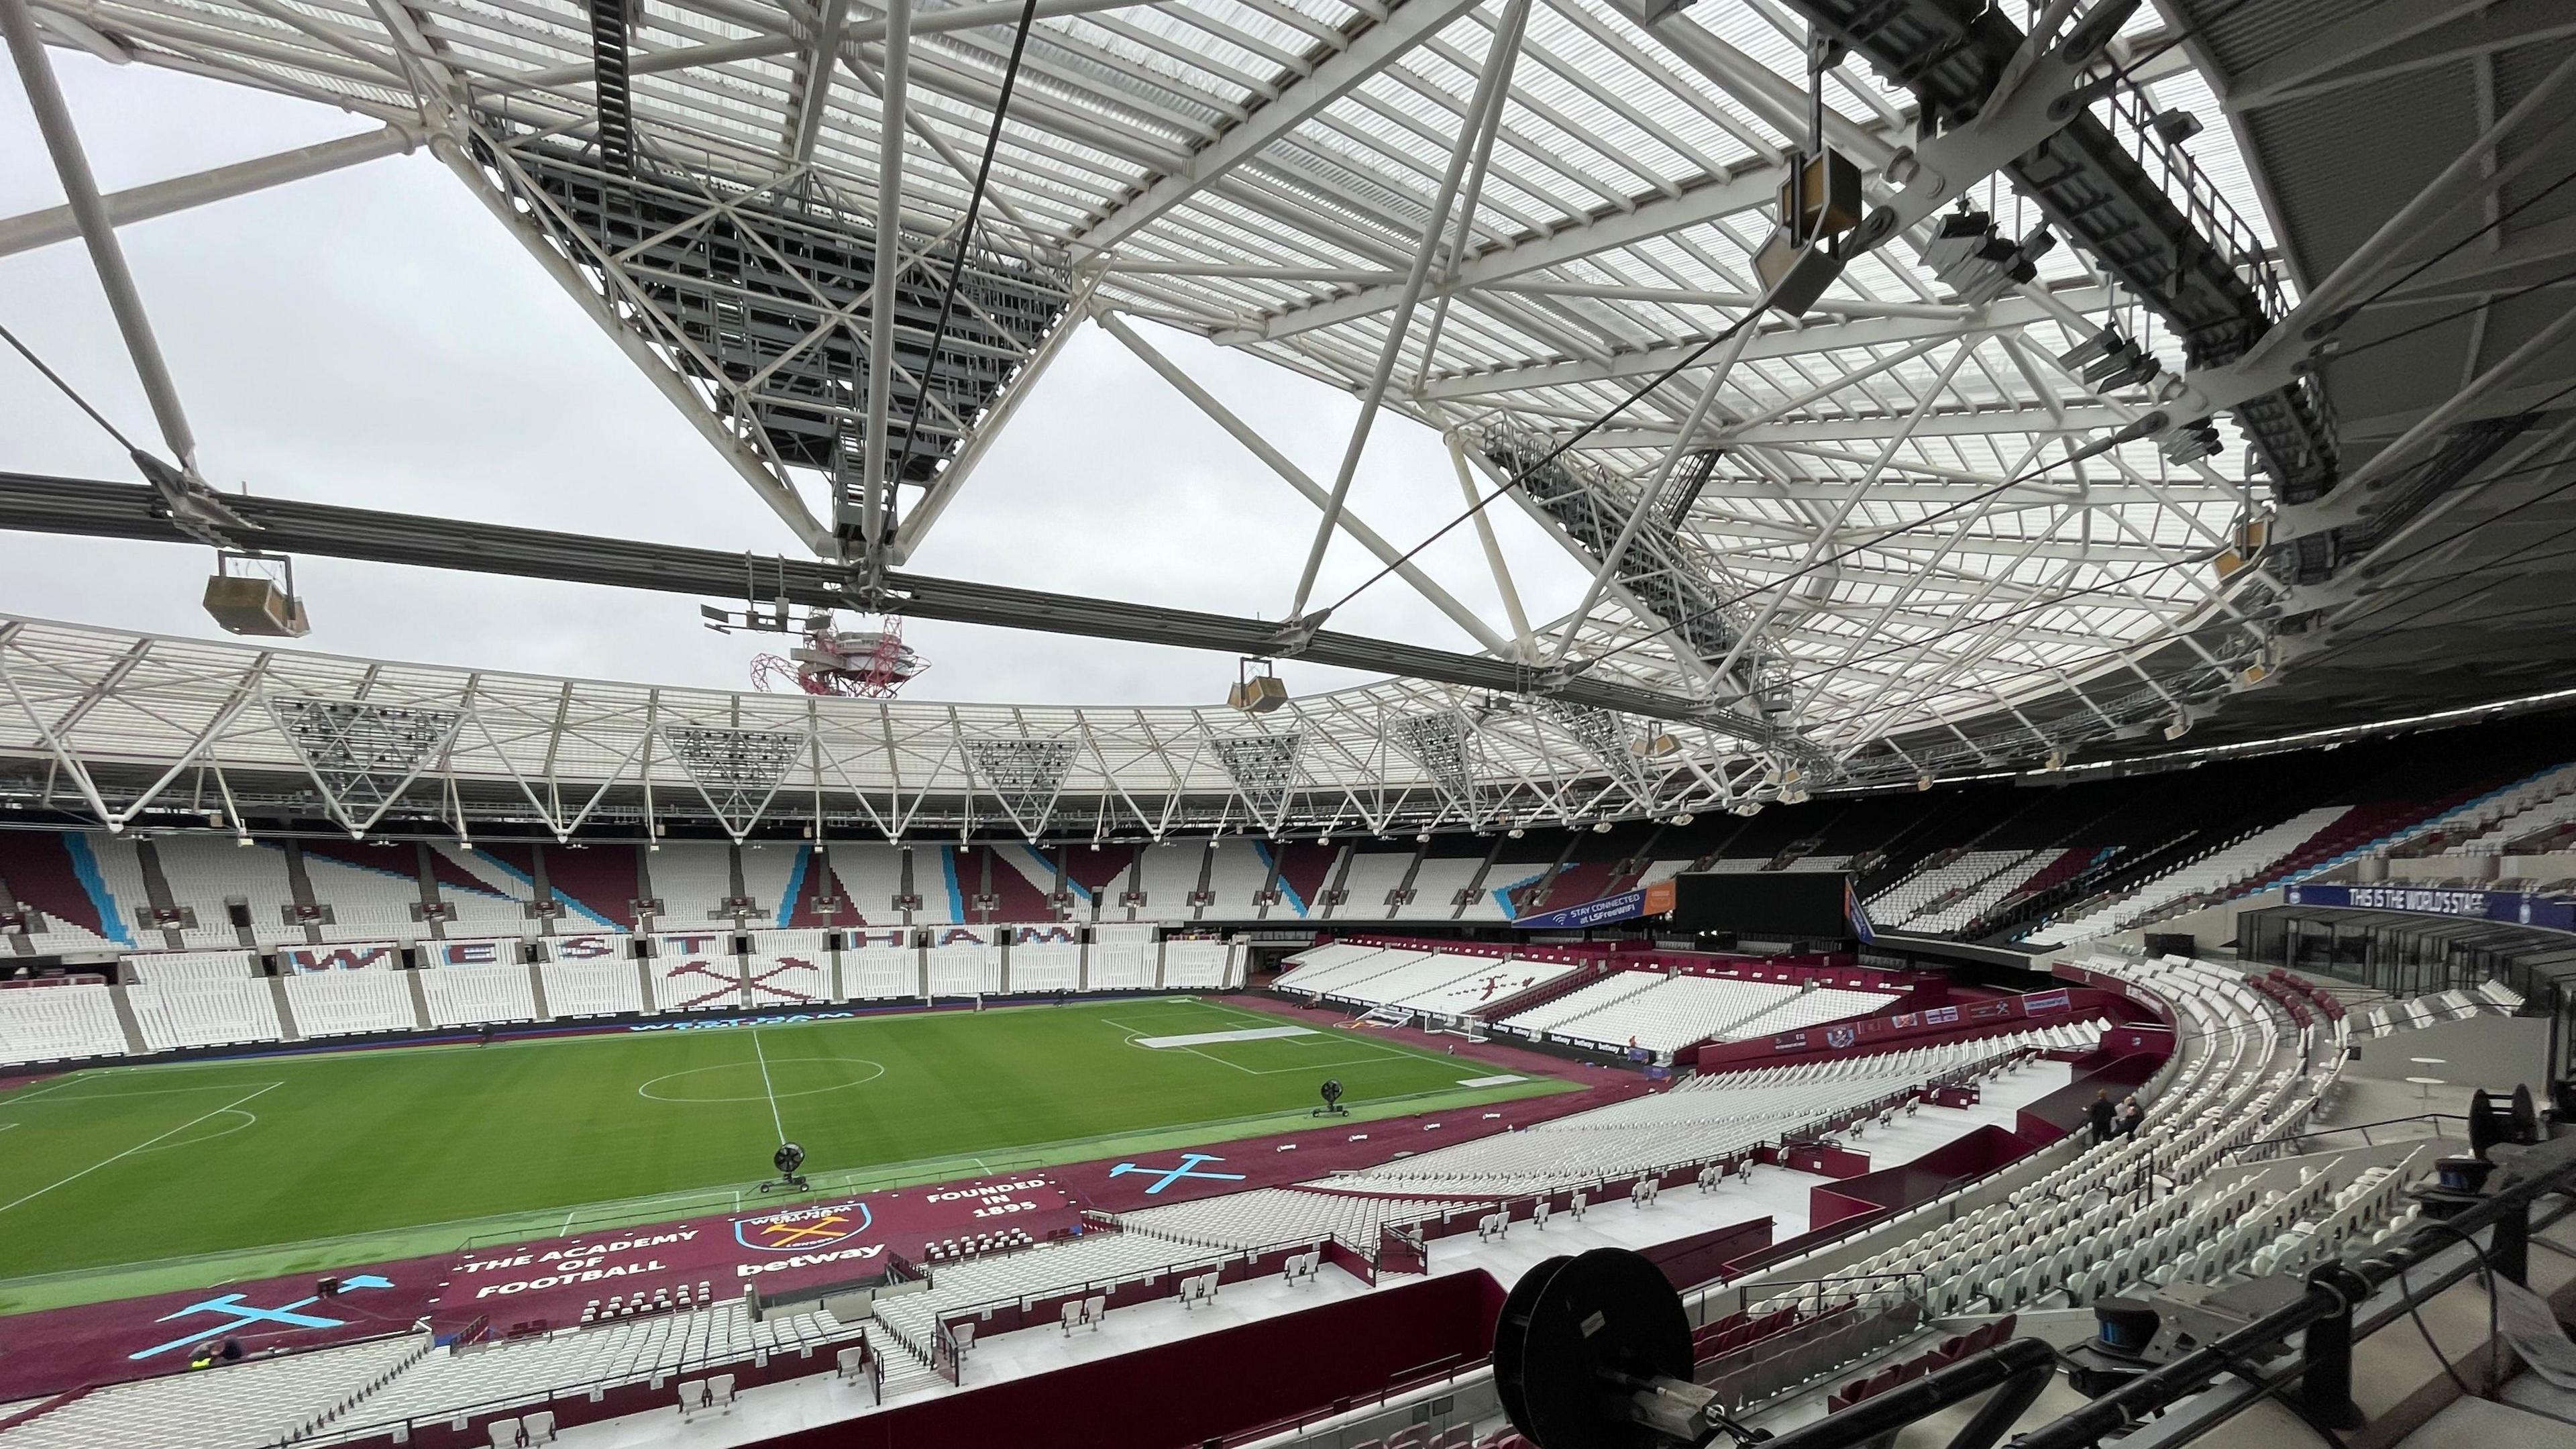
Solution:
M 0 1093 L 0 1312 L 1566 1091 L 1200 998 L 100 1067 Z M 778 1199 L 768 1199 L 778 1201 Z

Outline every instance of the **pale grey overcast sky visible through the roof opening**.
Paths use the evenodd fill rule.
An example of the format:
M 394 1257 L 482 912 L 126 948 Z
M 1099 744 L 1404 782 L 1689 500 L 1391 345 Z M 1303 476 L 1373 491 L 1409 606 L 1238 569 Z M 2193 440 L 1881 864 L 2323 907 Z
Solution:
M 374 121 L 147 64 L 52 52 L 106 191 L 227 165 Z M 15 72 L 0 83 L 0 214 L 62 204 Z M 520 242 L 422 155 L 121 229 L 188 420 L 224 490 L 799 554 L 801 547 Z M 0 322 L 118 428 L 152 441 L 88 253 L 0 258 Z M 1257 358 L 1139 325 L 1311 477 L 1329 485 L 1358 402 Z M 137 480 L 124 451 L 0 348 L 0 467 Z M 1440 438 L 1383 415 L 1352 511 L 1412 544 L 1461 511 Z M 1582 572 L 1510 503 L 1489 508 L 1535 621 Z M 1020 407 L 909 567 L 1185 608 L 1288 611 L 1316 511 L 1123 345 L 1084 327 Z M 224 637 L 198 608 L 198 547 L 0 534 L 0 611 Z M 1473 529 L 1425 567 L 1497 632 Z M 1334 539 L 1332 601 L 1376 572 Z M 495 670 L 739 688 L 775 639 L 698 627 L 698 601 L 299 559 L 304 647 Z M 1334 616 L 1440 647 L 1473 645 L 1401 580 Z M 1151 645 L 912 624 L 933 660 L 912 699 L 1213 704 L 1234 660 Z M 1283 668 L 1291 686 L 1350 681 Z

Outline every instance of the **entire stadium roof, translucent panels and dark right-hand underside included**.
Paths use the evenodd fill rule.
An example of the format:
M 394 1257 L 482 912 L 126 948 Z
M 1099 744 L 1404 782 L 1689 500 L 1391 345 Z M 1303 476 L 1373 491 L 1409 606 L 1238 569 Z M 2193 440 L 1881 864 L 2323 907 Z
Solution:
M 1473 670 L 1450 670 L 1445 683 L 1399 678 L 1298 701 L 1291 719 L 1309 737 L 1301 768 L 1314 784 L 1355 789 L 1350 768 L 1378 771 L 1378 784 L 1468 768 L 1497 792 L 1584 776 L 1592 797 L 1620 768 L 1633 773 L 1602 755 L 1633 761 L 1633 745 L 1669 730 L 1682 745 L 1664 768 L 1672 789 L 1597 802 L 1631 815 L 1770 797 L 1801 773 L 1870 784 L 2141 748 L 2213 709 L 2226 717 L 2236 691 L 2295 686 L 2303 655 L 2336 647 L 2326 611 L 2354 606 L 2365 565 L 2421 547 L 2427 521 L 2447 531 L 2512 511 L 2568 459 L 2566 392 L 2553 389 L 2576 353 L 2563 315 L 2545 312 L 2563 297 L 2512 291 L 2563 258 L 2576 214 L 2576 188 L 2545 191 L 2561 178 L 2535 165 L 2571 113 L 2576 54 L 2543 0 L 2141 5 L 2087 70 L 2102 85 L 2081 93 L 2074 124 L 2058 119 L 2066 131 L 2002 170 L 1971 168 L 1978 180 L 1942 199 L 1991 214 L 2007 240 L 2045 222 L 2058 245 L 2035 258 L 2035 276 L 1963 302 L 1919 260 L 1927 232 L 1909 227 L 1793 317 L 1765 312 L 1752 253 L 1811 124 L 1811 26 L 1850 52 L 1824 70 L 1826 137 L 1868 173 L 1873 201 L 1888 201 L 1924 157 L 1955 155 L 1927 134 L 1971 134 L 1986 88 L 2004 95 L 1996 75 L 2022 26 L 2063 36 L 2123 10 L 1036 0 L 1015 67 L 1020 13 L 850 0 L 33 3 L 54 44 L 386 126 L 111 209 L 170 209 L 428 144 L 824 557 L 855 544 L 876 570 L 899 565 L 1084 322 L 1185 392 L 1185 371 L 1128 320 L 1206 335 L 1448 433 L 1458 477 L 1419 487 L 1499 492 L 1597 572 L 1597 598 L 1556 621 L 1517 608 L 1481 619 L 1427 565 L 1391 562 L 1376 588 L 1422 590 L 1528 688 L 1473 688 L 1458 683 Z M 902 77 L 891 144 L 889 57 Z M 1896 72 L 1904 83 L 1888 80 Z M 974 245 L 958 248 L 1005 90 Z M 2370 126 L 2370 165 L 2349 160 L 2352 126 Z M 2463 180 L 2460 157 L 2478 175 Z M 2383 224 L 2432 199 L 2445 206 L 2421 235 L 2385 245 Z M 902 322 L 868 307 L 889 224 L 917 253 Z M 0 250 L 44 227 L 67 235 L 59 217 L 0 222 Z M 2419 343 L 2452 348 L 2439 366 L 2463 369 L 2455 392 L 2473 407 L 2424 407 L 2419 358 L 2378 348 L 2367 364 L 2303 364 L 2298 376 L 2269 374 L 2275 392 L 2223 400 L 2254 446 L 2172 446 L 2177 379 L 2197 387 L 2259 353 L 2257 340 L 2277 343 L 2264 325 L 2290 317 L 2324 273 L 2347 302 L 2427 250 L 2429 271 L 2401 278 L 2411 289 L 2393 299 L 2473 299 Z M 933 345 L 920 312 L 951 260 L 966 284 Z M 2349 322 L 2339 312 L 2306 335 L 2331 343 Z M 2079 345 L 2105 327 L 2151 353 L 2161 376 L 2087 382 Z M 2455 333 L 2470 327 L 2481 333 L 2460 361 Z M 927 369 L 871 376 L 871 338 L 902 338 L 896 361 Z M 2336 423 L 2347 389 L 2367 394 L 2375 431 Z M 920 402 L 907 413 L 907 400 Z M 889 418 L 907 415 L 894 459 Z M 1399 559 L 1406 541 L 1370 541 L 1340 508 L 1347 467 L 1342 480 L 1273 467 L 1332 516 L 1316 549 L 1340 526 Z M 2522 492 L 2473 487 L 2499 472 Z M 2342 477 L 2367 492 L 2336 490 Z M 2530 521 L 2561 526 L 2545 500 L 2537 508 Z M 2249 531 L 2257 523 L 2269 539 Z M 878 536 L 881 549 L 868 544 Z M 2452 544 L 2439 562 L 2483 541 Z M 2244 567 L 2264 547 L 2262 565 Z M 1510 596 L 1499 554 L 1492 567 Z M 2532 601 L 2543 621 L 2553 583 Z M 1329 603 L 1301 590 L 1291 614 Z M 2455 603 L 2445 624 L 2473 629 L 2476 614 Z M 2396 657 L 2378 639 L 2372 709 L 2458 688 L 2458 676 L 2409 683 L 2409 665 L 2445 634 L 2411 637 Z M 1291 637 L 1280 652 L 1296 647 Z M 2548 645 L 2537 665 L 2561 668 L 2563 652 Z M 222 647 L 152 655 L 204 655 L 216 676 L 240 668 Z M 1386 668 L 1406 670 L 1394 655 Z M 1538 699 L 1569 678 L 1628 688 L 1646 706 Z M 2496 694 L 2527 688 L 2522 678 Z M 616 709 L 647 694 L 626 691 Z M 2295 712 L 2334 709 L 2331 696 L 2298 691 Z M 711 696 L 690 709 L 811 706 Z M 953 737 L 987 727 L 963 706 L 866 714 L 953 719 Z M 1188 709 L 999 717 L 1010 732 L 1139 740 L 1133 758 L 1097 761 L 1103 789 L 1126 789 L 1136 768 L 1172 771 L 1170 743 L 1146 735 L 1288 730 Z M 1432 740 L 1396 750 L 1414 763 L 1386 766 L 1386 719 L 1432 717 L 1453 722 L 1440 737 L 1463 730 L 1473 758 L 1461 766 L 1466 755 Z M 902 750 L 889 743 L 884 755 L 896 768 Z M 1440 763 L 1425 763 L 1432 755 Z M 1453 799 L 1450 822 L 1476 817 L 1471 804 Z

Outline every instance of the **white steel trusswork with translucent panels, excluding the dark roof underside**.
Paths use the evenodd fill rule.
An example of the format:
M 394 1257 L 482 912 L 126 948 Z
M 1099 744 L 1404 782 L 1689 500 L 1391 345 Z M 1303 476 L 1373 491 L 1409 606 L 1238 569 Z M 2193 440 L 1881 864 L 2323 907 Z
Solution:
M 2027 26 L 2087 5 L 2002 10 Z M 1899 237 L 1852 260 L 1808 315 L 1749 317 L 1762 294 L 1752 250 L 1806 124 L 1808 36 L 1788 8 L 1700 0 L 1649 26 L 1613 0 L 1041 0 L 984 227 L 961 237 L 1018 13 L 644 0 L 623 8 L 611 75 L 592 8 L 569 0 L 33 3 L 54 44 L 111 46 L 386 126 L 327 155 L 111 199 L 116 217 L 417 137 L 824 554 L 884 547 L 899 562 L 1082 317 L 1154 364 L 1136 320 L 1378 397 L 1450 438 L 1471 498 L 1734 327 L 1728 345 L 1551 464 L 1546 487 L 1494 503 L 1530 511 L 1595 572 L 1584 608 L 1556 624 L 1520 619 L 1481 521 L 1479 562 L 1512 619 L 1476 619 L 1458 596 L 1479 580 L 1450 590 L 1427 559 L 1347 516 L 1365 420 L 1332 487 L 1273 467 L 1324 511 L 1316 552 L 1350 534 L 1484 650 L 1759 709 L 1795 740 L 1783 755 L 1847 779 L 1976 768 L 2138 730 L 2272 660 L 2259 611 L 2236 601 L 2246 578 L 2221 580 L 2208 562 L 2257 503 L 2244 467 L 2172 464 L 2143 438 L 2105 446 L 2154 397 L 2143 384 L 2097 389 L 2061 364 L 2107 325 L 2182 364 L 2156 317 L 2076 248 L 2048 253 L 2027 286 L 1965 304 Z M 2184 52 L 2156 44 L 2159 26 L 2141 8 L 2117 41 L 2117 54 L 2151 57 L 2130 80 L 2148 103 L 2202 95 Z M 1896 193 L 1914 98 L 1860 62 L 1832 67 L 1824 85 L 1829 134 L 1870 170 L 1875 196 Z M 2146 113 L 2125 90 L 2120 106 Z M 2221 235 L 2251 237 L 2246 255 L 2269 248 L 2233 134 L 2215 126 L 2192 144 L 2202 165 L 2159 152 L 2159 175 L 2195 217 L 2218 217 Z M 616 196 L 592 196 L 603 186 Z M 649 201 L 652 217 L 618 211 L 618 196 Z M 2038 222 L 1991 175 L 1958 199 L 2012 235 Z M 824 276 L 801 242 L 858 240 L 873 268 L 886 229 L 891 284 Z M 0 222 L 0 250 L 62 235 L 57 217 Z M 902 369 L 909 333 L 894 294 L 933 286 L 953 248 L 974 248 L 989 289 L 961 302 L 940 358 L 974 371 L 981 392 L 927 376 L 951 366 L 940 358 L 920 376 Z M 672 258 L 711 250 L 762 253 L 752 302 L 783 335 L 742 340 L 724 322 L 721 276 L 675 276 Z M 896 366 L 853 371 L 848 358 L 866 356 Z M 896 413 L 917 400 L 902 443 L 889 438 L 889 389 Z M 920 462 L 914 428 L 938 454 L 899 480 L 920 487 L 917 508 L 896 485 L 878 490 Z M 853 474 L 866 477 L 855 492 Z M 1450 482 L 1419 487 L 1445 498 Z M 891 529 L 884 508 L 899 511 Z M 0 745 L 57 773 L 175 758 L 152 750 L 191 750 L 209 768 L 222 758 L 227 771 L 278 763 L 255 714 L 211 730 L 206 701 L 250 668 L 250 655 L 214 645 L 149 642 L 149 668 L 113 681 L 70 727 L 46 717 L 67 699 L 59 688 L 100 688 L 95 655 L 124 647 L 18 627 L 5 652 L 23 737 Z M 319 681 L 358 668 L 265 660 Z M 1579 712 L 1388 681 L 1296 701 L 1306 743 L 1296 784 L 1278 786 L 1267 768 L 1260 784 L 1229 773 L 1229 761 L 1252 758 L 1244 748 L 1211 745 L 1283 722 L 1255 730 L 1188 709 L 992 714 L 683 691 L 647 701 L 623 686 L 477 676 L 469 688 L 440 670 L 381 670 L 471 719 L 438 763 L 453 799 L 474 781 L 510 781 L 551 825 L 654 784 L 662 807 L 672 786 L 708 789 L 729 828 L 835 797 L 824 810 L 904 830 L 974 789 L 1023 830 L 1061 817 L 1059 792 L 1092 815 L 1115 804 L 1164 828 L 1200 797 L 1231 794 L 1234 810 L 1265 815 L 1273 789 L 1301 802 L 1280 799 L 1278 820 L 1484 825 L 1726 802 L 1744 755 L 1734 737 L 1682 727 L 1680 758 L 1641 761 L 1625 755 L 1625 730 Z M 178 709 L 173 691 L 191 704 Z M 165 727 L 165 709 L 193 722 Z M 1404 722 L 1394 740 L 1388 719 Z M 1468 724 L 1461 735 L 1422 719 Z M 796 761 L 778 781 L 724 784 L 716 802 L 672 745 L 690 735 L 675 730 L 775 730 L 793 735 Z M 1041 792 L 994 763 L 989 740 L 1002 735 L 1082 748 L 1048 748 L 1064 773 Z M 59 784 L 46 781 L 49 799 Z

